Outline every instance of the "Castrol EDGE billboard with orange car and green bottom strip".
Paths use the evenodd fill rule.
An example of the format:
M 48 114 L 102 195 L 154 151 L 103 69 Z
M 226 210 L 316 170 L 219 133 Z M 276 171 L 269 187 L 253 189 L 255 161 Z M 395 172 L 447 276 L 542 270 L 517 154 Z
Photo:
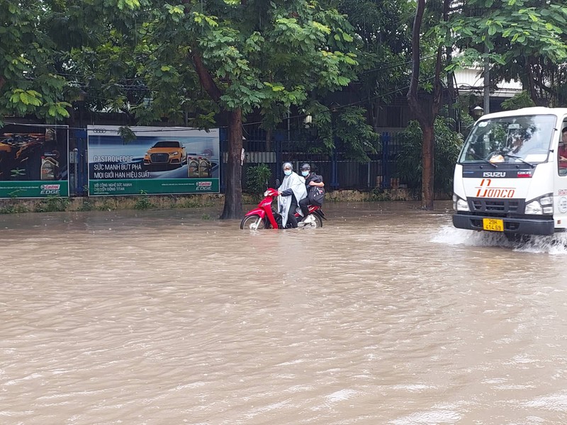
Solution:
M 87 127 L 89 196 L 218 193 L 218 130 Z

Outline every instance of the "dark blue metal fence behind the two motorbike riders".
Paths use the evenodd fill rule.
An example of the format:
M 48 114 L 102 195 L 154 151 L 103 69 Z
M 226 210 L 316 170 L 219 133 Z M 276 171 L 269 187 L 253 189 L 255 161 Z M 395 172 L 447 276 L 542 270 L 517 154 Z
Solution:
M 285 133 L 277 133 L 271 142 L 267 143 L 262 132 L 248 135 L 250 138 L 243 142 L 245 161 L 242 169 L 242 189 L 247 190 L 247 169 L 251 166 L 266 164 L 271 170 L 271 185 L 276 179 L 283 179 L 281 164 L 291 162 L 297 171 L 301 164 L 308 162 L 316 174 L 320 174 L 325 186 L 332 190 L 357 189 L 367 191 L 373 188 L 392 188 L 398 185 L 394 179 L 396 158 L 400 152 L 401 142 L 398 133 L 383 132 L 380 147 L 376 154 L 369 154 L 370 162 L 361 163 L 346 159 L 342 152 L 321 154 L 310 152 L 314 142 L 288 140 Z M 291 136 L 291 135 L 289 135 Z M 226 133 L 220 133 L 220 149 L 227 152 L 228 142 Z M 221 178 L 222 179 L 222 178 Z M 221 188 L 224 187 L 224 179 Z

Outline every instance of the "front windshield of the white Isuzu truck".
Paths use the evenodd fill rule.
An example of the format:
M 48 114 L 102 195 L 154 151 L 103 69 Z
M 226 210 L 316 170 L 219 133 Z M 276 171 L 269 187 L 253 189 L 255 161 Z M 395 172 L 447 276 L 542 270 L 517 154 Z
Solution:
M 555 123 L 555 115 L 523 115 L 478 121 L 466 139 L 459 163 L 546 162 Z

